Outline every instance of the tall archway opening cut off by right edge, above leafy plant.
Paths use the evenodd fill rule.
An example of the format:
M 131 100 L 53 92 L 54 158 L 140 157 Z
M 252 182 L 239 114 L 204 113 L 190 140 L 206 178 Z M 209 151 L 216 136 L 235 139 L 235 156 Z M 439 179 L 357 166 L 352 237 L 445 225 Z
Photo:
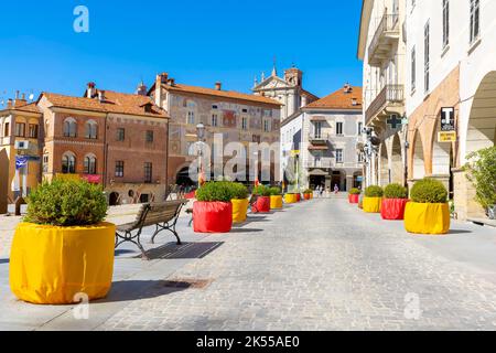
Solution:
M 466 129 L 465 157 L 495 146 L 496 141 L 496 71 L 481 82 L 472 104 Z

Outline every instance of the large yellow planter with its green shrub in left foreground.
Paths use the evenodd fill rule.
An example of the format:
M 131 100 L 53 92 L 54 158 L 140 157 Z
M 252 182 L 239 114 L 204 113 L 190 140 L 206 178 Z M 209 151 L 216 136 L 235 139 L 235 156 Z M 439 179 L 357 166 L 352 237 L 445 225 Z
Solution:
M 105 298 L 114 272 L 116 226 L 104 223 L 100 185 L 82 180 L 43 182 L 28 197 L 10 254 L 12 292 L 37 304 Z

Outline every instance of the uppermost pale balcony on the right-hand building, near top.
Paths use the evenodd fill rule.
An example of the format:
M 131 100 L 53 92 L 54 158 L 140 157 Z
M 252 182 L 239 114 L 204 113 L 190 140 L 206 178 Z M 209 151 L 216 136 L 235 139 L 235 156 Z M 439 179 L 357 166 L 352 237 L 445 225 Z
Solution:
M 385 12 L 368 46 L 368 64 L 380 66 L 385 60 L 391 57 L 390 52 L 399 36 L 399 15 Z

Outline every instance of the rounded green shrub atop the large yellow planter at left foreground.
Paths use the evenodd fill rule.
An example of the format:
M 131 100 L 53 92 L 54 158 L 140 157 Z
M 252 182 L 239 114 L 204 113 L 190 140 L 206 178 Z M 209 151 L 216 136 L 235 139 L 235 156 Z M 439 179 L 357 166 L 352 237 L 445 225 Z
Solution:
M 43 182 L 28 196 L 24 222 L 53 226 L 86 226 L 104 221 L 107 200 L 101 185 L 55 179 Z

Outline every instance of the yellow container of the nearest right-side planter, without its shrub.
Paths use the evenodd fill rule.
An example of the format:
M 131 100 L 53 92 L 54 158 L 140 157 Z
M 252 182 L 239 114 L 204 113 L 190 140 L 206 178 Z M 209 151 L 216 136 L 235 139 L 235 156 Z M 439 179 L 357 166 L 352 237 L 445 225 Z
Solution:
M 405 228 L 413 234 L 448 234 L 450 232 L 448 203 L 409 202 L 405 210 Z

